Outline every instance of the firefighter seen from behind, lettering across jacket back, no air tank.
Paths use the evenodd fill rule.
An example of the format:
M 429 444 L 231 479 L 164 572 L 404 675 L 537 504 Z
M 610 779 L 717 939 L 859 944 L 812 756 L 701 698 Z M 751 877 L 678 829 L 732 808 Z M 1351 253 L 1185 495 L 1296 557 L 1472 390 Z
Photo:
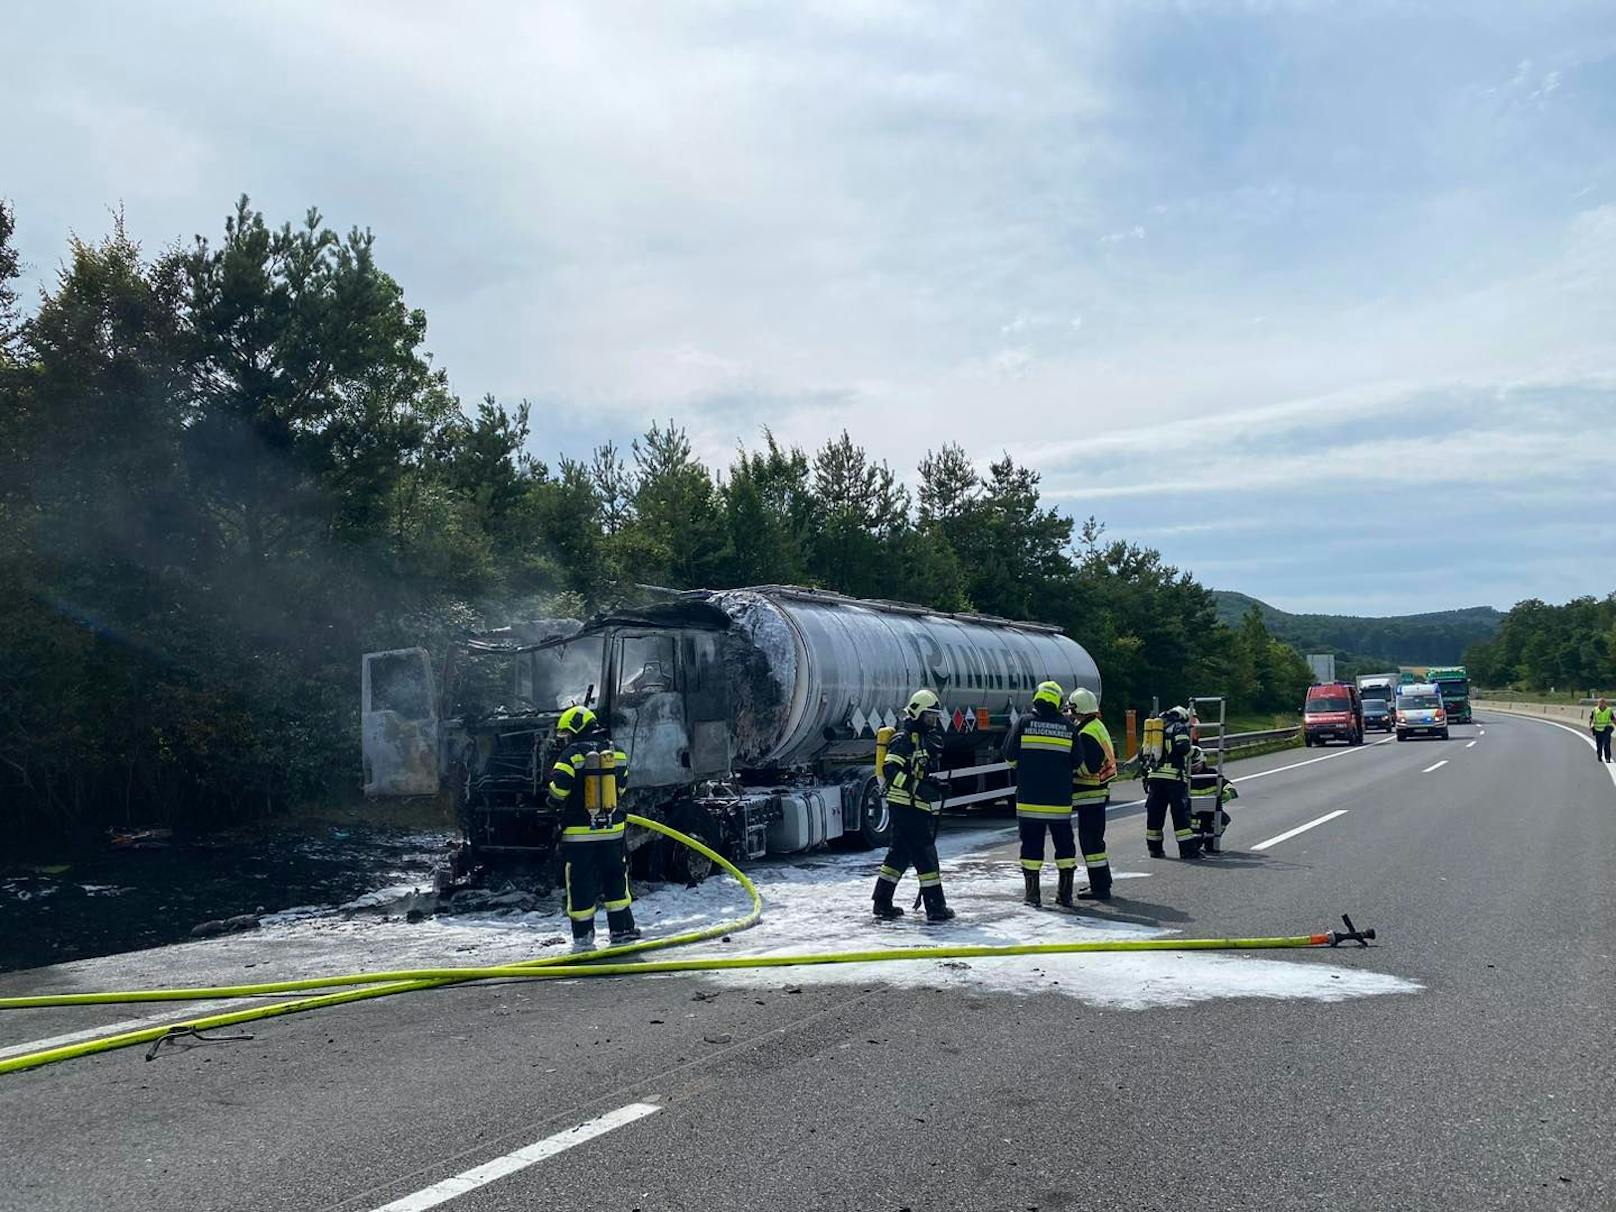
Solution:
M 1034 908 L 1044 903 L 1044 832 L 1055 839 L 1057 900 L 1071 903 L 1078 844 L 1071 837 L 1071 724 L 1060 714 L 1060 684 L 1039 682 L 1033 714 L 1021 716 L 1005 737 L 1005 761 L 1015 771 L 1015 816 L 1021 831 L 1021 881 Z

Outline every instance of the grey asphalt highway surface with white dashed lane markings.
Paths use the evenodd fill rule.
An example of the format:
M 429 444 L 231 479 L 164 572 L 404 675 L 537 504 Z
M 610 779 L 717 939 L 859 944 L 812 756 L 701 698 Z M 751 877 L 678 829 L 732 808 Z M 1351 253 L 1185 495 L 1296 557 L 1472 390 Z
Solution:
M 1277 962 L 1417 991 L 1118 1010 L 785 970 L 414 994 L 0 1076 L 0 1207 L 1616 1207 L 1616 784 L 1592 748 L 1493 714 L 1239 776 L 1217 860 L 1151 861 L 1115 813 L 1113 863 L 1149 877 L 1096 913 L 1254 936 L 1346 910 L 1378 945 Z M 89 1021 L 48 1013 L 29 1031 Z

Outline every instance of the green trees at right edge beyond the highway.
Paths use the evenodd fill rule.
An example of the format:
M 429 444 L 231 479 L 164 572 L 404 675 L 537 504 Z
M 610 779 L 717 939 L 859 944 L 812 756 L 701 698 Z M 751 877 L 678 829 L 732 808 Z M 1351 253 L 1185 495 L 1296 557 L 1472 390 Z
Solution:
M 1466 650 L 1464 666 L 1490 688 L 1616 690 L 1616 593 L 1516 603 L 1492 640 Z

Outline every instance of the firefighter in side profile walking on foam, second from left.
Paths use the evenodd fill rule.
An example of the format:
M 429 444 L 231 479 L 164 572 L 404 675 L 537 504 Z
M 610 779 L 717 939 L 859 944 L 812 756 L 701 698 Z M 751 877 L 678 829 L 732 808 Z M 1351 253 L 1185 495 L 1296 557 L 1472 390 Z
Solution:
M 887 789 L 887 811 L 892 814 L 892 848 L 876 876 L 876 916 L 882 921 L 902 918 L 892 903 L 898 881 L 911 866 L 920 876 L 920 895 L 926 902 L 926 921 L 949 921 L 953 910 L 942 895 L 942 873 L 937 861 L 937 811 L 942 789 L 931 772 L 942 764 L 942 711 L 931 690 L 916 690 L 903 708 L 903 726 L 890 742 L 881 766 Z

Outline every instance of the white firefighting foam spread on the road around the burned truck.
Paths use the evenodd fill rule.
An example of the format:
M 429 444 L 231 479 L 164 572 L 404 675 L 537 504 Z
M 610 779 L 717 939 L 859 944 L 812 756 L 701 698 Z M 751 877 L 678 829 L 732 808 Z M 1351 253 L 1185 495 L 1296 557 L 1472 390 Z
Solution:
M 958 918 L 926 926 L 910 910 L 894 924 L 869 915 L 869 890 L 879 855 L 824 853 L 766 863 L 750 871 L 764 897 L 763 923 L 732 936 L 682 947 L 654 958 L 706 955 L 789 955 L 882 950 L 941 944 L 1025 944 L 1083 939 L 1170 937 L 1152 924 L 1144 873 L 1118 871 L 1118 900 L 1084 913 L 1033 910 L 1020 903 L 1021 879 L 1013 858 L 987 855 L 1008 832 L 970 831 L 944 839 L 944 884 Z M 1054 871 L 1047 871 L 1054 881 Z M 396 887 L 362 897 L 343 910 L 292 910 L 265 918 L 259 931 L 202 942 L 82 960 L 18 973 L 0 981 L 8 992 L 175 984 L 236 984 L 365 970 L 499 965 L 564 953 L 567 921 L 559 903 L 532 913 L 483 913 L 428 918 L 377 916 L 412 889 Z M 1046 897 L 1050 890 L 1046 889 Z M 913 874 L 898 889 L 908 908 Z M 367 910 L 356 913 L 356 910 Z M 722 876 L 700 887 L 658 886 L 635 902 L 646 937 L 677 934 L 745 913 L 747 897 Z M 1130 920 L 1133 918 L 1133 920 Z M 604 915 L 601 918 L 604 926 Z M 1197 923 L 1204 929 L 1204 924 Z M 1298 931 L 1314 923 L 1299 923 Z M 604 931 L 603 931 L 604 934 Z M 1283 957 L 1283 958 L 1281 958 Z M 653 957 L 648 957 L 653 958 Z M 952 987 L 1002 994 L 1063 994 L 1112 1008 L 1173 1007 L 1223 997 L 1312 999 L 1336 1002 L 1374 994 L 1414 992 L 1420 986 L 1357 966 L 1325 963 L 1283 952 L 1252 953 L 1149 952 L 1029 955 L 994 960 L 913 960 L 813 968 L 766 968 L 705 973 L 701 979 L 730 986 L 886 984 Z M 29 1012 L 32 1013 L 32 1012 Z

